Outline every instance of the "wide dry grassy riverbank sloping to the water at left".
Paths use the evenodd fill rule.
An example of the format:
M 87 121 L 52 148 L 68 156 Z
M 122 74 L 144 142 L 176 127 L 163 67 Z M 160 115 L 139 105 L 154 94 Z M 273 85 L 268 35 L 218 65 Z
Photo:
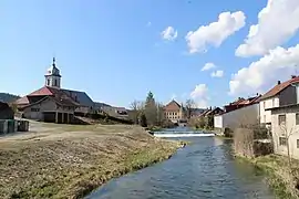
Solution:
M 31 129 L 0 137 L 0 198 L 82 198 L 177 148 L 137 126 L 37 123 Z

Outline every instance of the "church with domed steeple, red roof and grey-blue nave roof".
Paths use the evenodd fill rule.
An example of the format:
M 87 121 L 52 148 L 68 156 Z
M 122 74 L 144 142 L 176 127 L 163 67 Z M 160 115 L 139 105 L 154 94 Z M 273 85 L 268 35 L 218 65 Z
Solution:
M 44 86 L 16 101 L 22 117 L 49 122 L 72 124 L 75 114 L 94 112 L 94 102 L 81 91 L 61 87 L 61 74 L 55 59 L 44 75 Z

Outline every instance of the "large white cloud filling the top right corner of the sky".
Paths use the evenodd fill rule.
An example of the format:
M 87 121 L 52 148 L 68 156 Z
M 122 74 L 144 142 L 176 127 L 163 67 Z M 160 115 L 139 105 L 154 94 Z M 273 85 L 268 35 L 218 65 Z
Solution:
M 283 44 L 299 30 L 299 0 L 268 0 L 250 27 L 245 43 L 236 50 L 238 56 L 264 55 Z

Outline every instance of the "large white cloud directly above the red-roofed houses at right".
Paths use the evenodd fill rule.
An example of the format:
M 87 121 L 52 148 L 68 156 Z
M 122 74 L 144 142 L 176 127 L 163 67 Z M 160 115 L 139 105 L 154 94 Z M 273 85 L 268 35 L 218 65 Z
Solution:
M 289 49 L 278 46 L 248 67 L 233 74 L 229 94 L 262 93 L 272 87 L 278 80 L 289 78 L 298 67 L 299 44 Z

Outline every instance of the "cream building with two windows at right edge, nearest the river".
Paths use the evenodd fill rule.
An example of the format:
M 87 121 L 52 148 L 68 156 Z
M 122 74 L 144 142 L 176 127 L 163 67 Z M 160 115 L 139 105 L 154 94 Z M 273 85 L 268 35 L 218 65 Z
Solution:
M 299 159 L 299 104 L 271 107 L 271 133 L 276 154 Z

